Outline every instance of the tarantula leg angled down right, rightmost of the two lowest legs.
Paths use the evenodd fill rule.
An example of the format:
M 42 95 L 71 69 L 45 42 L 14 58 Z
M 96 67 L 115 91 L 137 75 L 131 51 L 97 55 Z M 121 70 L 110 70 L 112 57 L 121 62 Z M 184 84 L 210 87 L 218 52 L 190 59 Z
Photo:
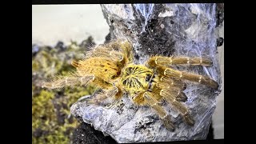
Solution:
M 161 90 L 160 95 L 170 103 L 171 106 L 174 106 L 179 112 L 181 112 L 184 121 L 190 126 L 194 126 L 194 119 L 190 116 L 189 110 L 186 106 L 182 105 L 181 102 L 178 102 L 174 95 L 170 94 L 168 90 Z

